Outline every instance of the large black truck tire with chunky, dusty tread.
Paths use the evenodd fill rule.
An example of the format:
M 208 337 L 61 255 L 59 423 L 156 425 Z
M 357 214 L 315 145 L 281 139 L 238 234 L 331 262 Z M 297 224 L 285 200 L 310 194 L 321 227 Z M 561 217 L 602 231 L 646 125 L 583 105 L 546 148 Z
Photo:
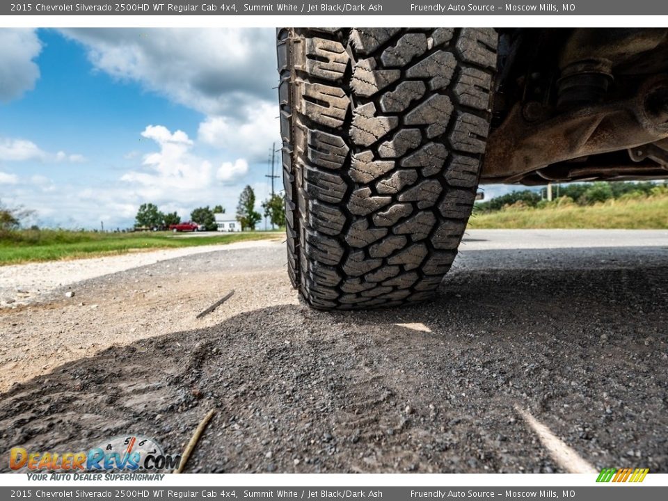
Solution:
M 429 299 L 477 191 L 493 29 L 278 29 L 287 266 L 318 309 Z

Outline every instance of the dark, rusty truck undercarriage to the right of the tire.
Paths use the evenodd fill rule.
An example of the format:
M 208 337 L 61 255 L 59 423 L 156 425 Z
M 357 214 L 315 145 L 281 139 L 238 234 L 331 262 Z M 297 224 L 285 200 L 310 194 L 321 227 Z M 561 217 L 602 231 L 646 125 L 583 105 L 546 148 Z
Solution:
M 668 29 L 500 30 L 481 183 L 668 177 Z

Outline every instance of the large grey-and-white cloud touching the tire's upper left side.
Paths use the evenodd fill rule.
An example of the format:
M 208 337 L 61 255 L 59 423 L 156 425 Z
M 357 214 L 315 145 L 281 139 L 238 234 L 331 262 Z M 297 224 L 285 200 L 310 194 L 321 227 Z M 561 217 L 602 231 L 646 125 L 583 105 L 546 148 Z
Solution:
M 200 111 L 198 138 L 266 161 L 280 141 L 273 29 L 65 29 L 96 70 Z

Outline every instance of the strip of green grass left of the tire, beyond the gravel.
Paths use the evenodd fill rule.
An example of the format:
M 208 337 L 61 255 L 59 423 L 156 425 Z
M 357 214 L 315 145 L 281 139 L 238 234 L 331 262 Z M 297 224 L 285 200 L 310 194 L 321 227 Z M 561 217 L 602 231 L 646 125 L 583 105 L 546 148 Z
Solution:
M 280 239 L 283 232 L 244 232 L 182 237 L 171 232 L 100 233 L 70 230 L 15 230 L 0 233 L 0 266 L 25 262 L 119 255 L 161 248 L 232 244 Z

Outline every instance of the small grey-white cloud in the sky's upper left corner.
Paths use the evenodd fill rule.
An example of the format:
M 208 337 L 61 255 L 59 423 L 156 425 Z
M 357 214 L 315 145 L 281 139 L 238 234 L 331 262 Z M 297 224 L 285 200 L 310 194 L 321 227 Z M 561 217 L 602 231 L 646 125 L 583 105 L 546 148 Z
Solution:
M 0 29 L 0 102 L 35 88 L 40 68 L 33 61 L 42 44 L 31 29 Z

